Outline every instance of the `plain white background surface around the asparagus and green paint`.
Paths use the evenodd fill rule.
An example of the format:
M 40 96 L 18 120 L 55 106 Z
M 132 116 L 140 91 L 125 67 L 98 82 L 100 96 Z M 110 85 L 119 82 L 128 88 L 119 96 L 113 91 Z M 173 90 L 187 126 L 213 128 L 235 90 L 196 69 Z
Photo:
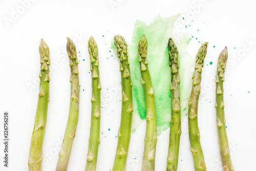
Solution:
M 184 23 L 182 17 L 179 18 L 179 22 L 187 26 L 185 31 L 189 37 L 194 36 L 187 49 L 193 58 L 201 42 L 209 42 L 202 74 L 202 97 L 199 102 L 198 118 L 207 170 L 221 170 L 214 108 L 215 83 L 212 82 L 212 78 L 215 79 L 217 58 L 225 46 L 228 48 L 229 62 L 225 73 L 224 96 L 231 159 L 235 170 L 255 170 L 256 3 L 254 1 L 205 1 L 202 3 L 203 6 L 198 10 L 194 9 L 193 12 L 191 7 L 198 6 L 200 1 L 29 2 L 25 8 L 20 1 L 0 1 L 1 170 L 28 170 L 28 154 L 39 90 L 37 77 L 40 38 L 44 38 L 50 47 L 51 58 L 51 100 L 43 148 L 43 170 L 55 170 L 69 111 L 70 68 L 66 56 L 67 36 L 73 39 L 77 52 L 80 52 L 78 57 L 81 85 L 79 121 L 68 170 L 84 170 L 91 114 L 91 73 L 89 73 L 90 61 L 87 49 L 91 35 L 94 36 L 99 49 L 102 100 L 106 96 L 111 97 L 101 110 L 103 134 L 101 134 L 97 170 L 112 169 L 120 122 L 121 91 L 119 89 L 117 94 L 110 93 L 111 90 L 118 89 L 116 85 L 120 82 L 119 66 L 110 49 L 110 40 L 114 35 L 121 34 L 127 42 L 131 42 L 136 19 L 150 24 L 159 14 L 162 17 L 169 17 L 178 13 L 186 16 L 187 23 Z M 15 12 L 18 12 L 18 15 L 13 16 Z M 12 19 L 9 24 L 6 22 L 7 17 Z M 248 44 L 249 41 L 253 44 Z M 210 61 L 212 65 L 209 64 Z M 8 168 L 4 167 L 2 162 L 5 111 L 10 114 Z M 144 134 L 145 122 L 132 135 L 127 170 L 141 169 Z M 158 171 L 165 170 L 166 167 L 168 138 L 169 129 L 158 137 L 156 150 Z M 182 122 L 178 170 L 194 170 L 193 157 L 189 151 L 187 118 Z

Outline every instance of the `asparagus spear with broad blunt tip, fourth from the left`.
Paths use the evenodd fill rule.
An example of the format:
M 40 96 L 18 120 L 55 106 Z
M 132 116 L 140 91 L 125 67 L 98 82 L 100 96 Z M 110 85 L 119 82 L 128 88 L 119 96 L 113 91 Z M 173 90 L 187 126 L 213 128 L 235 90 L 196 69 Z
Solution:
M 132 103 L 132 82 L 130 75 L 130 63 L 128 61 L 127 44 L 120 35 L 114 37 L 117 54 L 120 58 L 121 86 L 122 86 L 122 113 L 118 131 L 118 143 L 113 171 L 125 170 L 127 153 L 129 150 L 133 103 Z

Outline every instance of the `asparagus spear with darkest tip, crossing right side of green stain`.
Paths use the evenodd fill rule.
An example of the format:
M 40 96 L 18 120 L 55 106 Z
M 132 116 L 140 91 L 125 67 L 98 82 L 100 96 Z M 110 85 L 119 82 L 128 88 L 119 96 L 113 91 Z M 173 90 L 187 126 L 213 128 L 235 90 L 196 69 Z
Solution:
M 169 38 L 169 66 L 171 67 L 170 91 L 172 92 L 172 120 L 170 121 L 169 151 L 166 170 L 177 170 L 179 159 L 181 113 L 180 113 L 180 76 L 178 49 L 172 38 Z

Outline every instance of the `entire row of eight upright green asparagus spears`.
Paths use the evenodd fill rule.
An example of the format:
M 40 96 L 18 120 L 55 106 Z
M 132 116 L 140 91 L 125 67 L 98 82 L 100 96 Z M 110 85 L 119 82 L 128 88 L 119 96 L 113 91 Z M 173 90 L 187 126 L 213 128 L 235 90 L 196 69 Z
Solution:
M 71 148 L 76 133 L 79 113 L 79 78 L 78 78 L 78 59 L 74 42 L 67 37 L 67 52 L 71 68 L 71 97 L 70 111 L 65 136 L 59 152 L 59 159 L 56 171 L 67 170 Z M 113 171 L 125 170 L 127 154 L 129 151 L 133 102 L 132 102 L 132 82 L 130 74 L 130 63 L 128 60 L 127 44 L 120 35 L 114 37 L 114 43 L 117 48 L 118 58 L 120 59 L 121 86 L 122 86 L 122 109 L 121 122 L 118 130 L 118 144 L 116 156 L 113 165 Z M 198 100 L 201 89 L 202 68 L 207 52 L 205 42 L 199 49 L 196 56 L 195 71 L 193 74 L 193 84 L 191 95 L 188 100 L 188 129 L 190 151 L 194 158 L 195 170 L 206 170 L 203 151 L 200 143 L 200 131 L 198 127 Z M 177 170 L 179 158 L 179 144 L 181 136 L 181 106 L 180 106 L 180 76 L 178 49 L 172 38 L 168 41 L 169 49 L 169 66 L 171 73 L 170 91 L 172 94 L 172 117 L 170 121 L 169 148 L 167 156 L 166 170 Z M 89 136 L 89 147 L 87 154 L 86 171 L 96 170 L 98 147 L 100 144 L 100 78 L 99 78 L 99 58 L 98 47 L 91 36 L 88 42 L 90 55 L 90 70 L 92 72 L 92 112 L 91 112 L 91 129 Z M 49 96 L 49 47 L 41 39 L 39 46 L 40 53 L 40 87 L 38 94 L 38 104 L 35 116 L 34 130 L 32 133 L 30 152 L 29 152 L 29 170 L 41 170 L 42 162 L 42 144 L 44 141 L 45 127 L 47 121 Z M 225 126 L 224 102 L 223 102 L 223 81 L 227 61 L 227 48 L 220 53 L 216 72 L 216 114 L 217 130 L 219 137 L 220 155 L 223 170 L 233 170 L 230 160 L 228 140 Z M 144 153 L 142 159 L 142 170 L 155 170 L 155 153 L 157 144 L 157 127 L 156 127 L 156 109 L 154 91 L 151 82 L 150 71 L 148 70 L 147 59 L 147 40 L 143 35 L 138 43 L 138 59 L 140 62 L 141 84 L 144 88 L 146 102 L 146 134 L 144 138 Z

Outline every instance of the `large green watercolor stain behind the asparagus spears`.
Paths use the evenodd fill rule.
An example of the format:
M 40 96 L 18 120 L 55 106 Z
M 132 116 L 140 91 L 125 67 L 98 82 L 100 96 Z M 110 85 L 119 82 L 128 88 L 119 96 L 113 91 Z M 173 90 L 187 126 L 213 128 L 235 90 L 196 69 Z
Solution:
M 187 116 L 187 101 L 190 95 L 190 87 L 192 83 L 191 68 L 194 67 L 194 62 L 186 51 L 189 38 L 187 33 L 173 36 L 174 23 L 180 14 L 162 18 L 157 16 L 154 22 L 150 25 L 137 20 L 134 26 L 133 38 L 128 46 L 129 62 L 131 63 L 131 79 L 133 82 L 133 123 L 132 132 L 134 133 L 140 123 L 146 118 L 146 106 L 144 89 L 141 85 L 141 72 L 138 62 L 138 42 L 144 34 L 147 38 L 147 58 L 148 69 L 151 73 L 152 84 L 155 93 L 156 113 L 157 113 L 157 132 L 158 135 L 162 131 L 170 127 L 171 116 L 171 93 L 170 93 L 170 67 L 168 64 L 168 49 L 167 43 L 169 37 L 172 37 L 179 50 L 180 63 L 180 94 L 181 94 L 181 118 Z M 125 37 L 124 37 L 125 38 Z M 111 38 L 111 46 L 117 58 L 116 46 Z M 119 62 L 119 58 L 117 58 Z

